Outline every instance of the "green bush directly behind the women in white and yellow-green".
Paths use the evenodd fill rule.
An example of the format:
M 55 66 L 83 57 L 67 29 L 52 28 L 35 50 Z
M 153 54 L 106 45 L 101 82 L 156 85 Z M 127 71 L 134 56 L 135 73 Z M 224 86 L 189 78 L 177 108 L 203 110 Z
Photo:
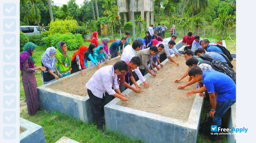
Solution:
M 51 34 L 47 37 L 44 37 L 42 40 L 44 40 L 44 43 L 46 44 L 46 48 L 51 46 L 56 48 L 56 44 L 60 41 L 66 42 L 68 50 L 78 49 L 83 44 L 82 35 L 72 34 L 72 33 Z

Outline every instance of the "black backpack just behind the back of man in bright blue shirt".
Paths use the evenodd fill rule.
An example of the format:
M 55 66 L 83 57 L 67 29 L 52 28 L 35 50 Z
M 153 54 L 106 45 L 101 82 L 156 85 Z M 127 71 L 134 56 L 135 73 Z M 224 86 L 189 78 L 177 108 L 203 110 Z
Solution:
M 212 60 L 212 62 L 203 60 L 199 63 L 199 65 L 202 64 L 202 63 L 206 63 L 206 64 L 211 65 L 212 69 L 214 69 L 215 71 L 219 71 L 219 72 L 222 72 L 224 74 L 227 74 L 236 83 L 236 72 L 234 72 L 234 70 L 231 69 L 229 66 L 226 66 L 226 63 L 221 62 L 221 61 L 216 61 L 216 60 Z

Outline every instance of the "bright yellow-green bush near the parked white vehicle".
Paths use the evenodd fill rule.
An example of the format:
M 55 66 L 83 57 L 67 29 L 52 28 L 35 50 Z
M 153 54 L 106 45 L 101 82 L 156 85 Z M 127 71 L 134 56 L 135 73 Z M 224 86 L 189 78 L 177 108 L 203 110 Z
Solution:
M 74 19 L 71 20 L 58 20 L 56 19 L 54 22 L 50 22 L 50 34 L 54 33 L 72 33 L 75 31 L 76 27 L 78 27 L 77 21 Z

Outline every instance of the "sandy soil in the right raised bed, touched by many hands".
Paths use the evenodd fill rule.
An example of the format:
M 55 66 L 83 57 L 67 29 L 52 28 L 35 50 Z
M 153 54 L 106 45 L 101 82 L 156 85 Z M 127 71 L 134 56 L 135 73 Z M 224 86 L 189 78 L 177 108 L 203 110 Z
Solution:
M 150 84 L 149 89 L 142 89 L 143 92 L 140 93 L 131 92 L 129 100 L 119 104 L 132 109 L 187 121 L 195 94 L 185 98 L 184 92 L 195 89 L 196 84 L 184 89 L 177 89 L 179 85 L 187 83 L 188 77 L 179 83 L 175 83 L 174 80 L 180 78 L 188 67 L 184 57 L 174 59 L 180 63 L 180 66 L 170 62 L 166 63 L 158 71 L 156 77 L 151 76 L 147 79 Z

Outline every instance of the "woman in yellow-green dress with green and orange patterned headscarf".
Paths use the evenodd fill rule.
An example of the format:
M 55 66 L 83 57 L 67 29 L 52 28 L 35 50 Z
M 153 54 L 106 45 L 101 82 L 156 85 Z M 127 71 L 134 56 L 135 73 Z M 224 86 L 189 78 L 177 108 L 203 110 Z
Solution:
M 60 72 L 61 74 L 61 76 L 58 74 L 59 78 L 70 75 L 70 71 L 72 70 L 70 64 L 71 61 L 67 53 L 67 46 L 65 42 L 61 41 L 57 43 L 57 53 L 55 57 L 58 61 L 56 63 L 56 67 L 58 69 L 57 72 Z

